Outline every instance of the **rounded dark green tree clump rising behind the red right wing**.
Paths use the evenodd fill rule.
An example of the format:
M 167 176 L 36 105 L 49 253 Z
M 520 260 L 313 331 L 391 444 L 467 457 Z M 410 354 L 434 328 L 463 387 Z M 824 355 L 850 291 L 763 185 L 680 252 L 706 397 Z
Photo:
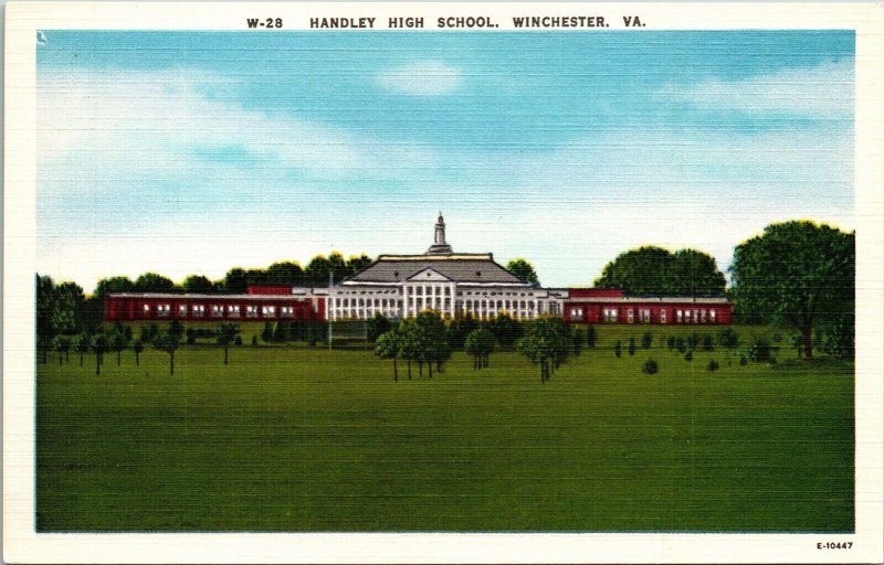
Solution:
M 602 269 L 597 288 L 618 288 L 627 295 L 720 296 L 725 276 L 715 259 L 695 249 L 670 253 L 645 246 L 620 254 Z

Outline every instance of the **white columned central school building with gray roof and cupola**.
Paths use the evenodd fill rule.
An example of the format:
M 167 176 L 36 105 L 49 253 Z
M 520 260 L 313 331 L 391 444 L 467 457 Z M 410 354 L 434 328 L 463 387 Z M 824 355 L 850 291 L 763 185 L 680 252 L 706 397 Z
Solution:
M 322 289 L 293 289 L 319 294 Z M 491 253 L 454 253 L 445 221 L 436 221 L 433 244 L 422 255 L 381 255 L 328 290 L 326 318 L 367 320 L 380 313 L 409 318 L 423 310 L 443 318 L 488 320 L 507 313 L 519 320 L 560 315 L 567 289 L 536 287 L 498 265 Z

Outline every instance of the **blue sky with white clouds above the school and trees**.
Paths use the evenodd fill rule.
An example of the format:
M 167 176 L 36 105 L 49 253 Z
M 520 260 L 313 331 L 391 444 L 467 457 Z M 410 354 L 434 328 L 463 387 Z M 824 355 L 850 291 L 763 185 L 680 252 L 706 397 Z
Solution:
M 851 31 L 40 32 L 38 270 L 524 257 L 854 226 Z

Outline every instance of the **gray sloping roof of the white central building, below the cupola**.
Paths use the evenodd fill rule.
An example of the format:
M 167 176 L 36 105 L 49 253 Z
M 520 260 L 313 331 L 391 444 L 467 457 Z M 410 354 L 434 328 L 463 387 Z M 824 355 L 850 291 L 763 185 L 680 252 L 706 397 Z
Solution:
M 501 265 L 491 254 L 451 256 L 382 255 L 344 282 L 398 282 L 424 269 L 433 269 L 455 282 L 502 282 L 527 285 Z

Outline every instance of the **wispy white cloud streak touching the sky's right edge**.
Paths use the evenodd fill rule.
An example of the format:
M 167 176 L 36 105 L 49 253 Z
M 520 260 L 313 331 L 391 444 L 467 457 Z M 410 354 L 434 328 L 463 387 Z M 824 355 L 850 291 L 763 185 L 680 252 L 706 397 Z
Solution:
M 853 68 L 852 61 L 825 62 L 738 81 L 669 85 L 660 94 L 701 109 L 845 118 L 853 115 Z

